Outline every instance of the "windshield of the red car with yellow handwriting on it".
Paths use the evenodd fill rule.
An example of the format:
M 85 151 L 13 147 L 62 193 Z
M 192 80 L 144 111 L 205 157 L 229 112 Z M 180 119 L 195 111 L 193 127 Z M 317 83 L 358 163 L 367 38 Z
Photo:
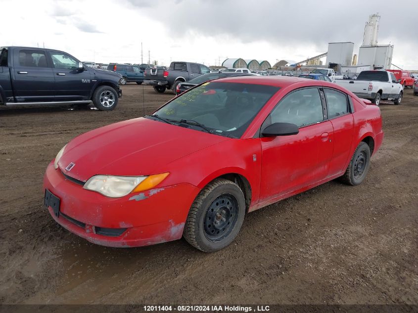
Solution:
M 279 89 L 266 85 L 208 82 L 174 98 L 154 116 L 157 116 L 156 121 L 166 120 L 198 131 L 239 138 Z M 152 116 L 147 118 L 153 119 Z

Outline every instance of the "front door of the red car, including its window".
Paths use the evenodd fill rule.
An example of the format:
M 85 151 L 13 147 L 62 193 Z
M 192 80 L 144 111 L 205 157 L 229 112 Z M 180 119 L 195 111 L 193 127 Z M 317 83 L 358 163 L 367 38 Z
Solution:
M 297 125 L 299 133 L 261 137 L 261 201 L 269 202 L 325 179 L 332 158 L 333 129 L 326 120 L 325 99 L 318 88 L 297 89 L 287 94 L 261 130 L 278 122 Z

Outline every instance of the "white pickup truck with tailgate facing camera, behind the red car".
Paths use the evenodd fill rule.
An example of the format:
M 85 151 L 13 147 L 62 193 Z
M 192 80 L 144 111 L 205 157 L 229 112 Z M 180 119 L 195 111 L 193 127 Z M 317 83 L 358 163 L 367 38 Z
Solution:
M 369 99 L 379 105 L 380 100 L 393 100 L 401 103 L 404 89 L 401 80 L 397 81 L 393 73 L 387 71 L 362 71 L 356 80 L 336 80 L 336 84 L 350 90 L 359 98 Z

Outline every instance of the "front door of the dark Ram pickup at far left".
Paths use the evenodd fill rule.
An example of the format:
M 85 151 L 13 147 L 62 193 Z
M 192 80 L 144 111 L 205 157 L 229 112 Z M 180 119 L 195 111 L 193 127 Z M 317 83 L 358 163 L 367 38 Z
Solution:
M 61 51 L 48 51 L 55 77 L 55 101 L 88 100 L 93 82 L 89 67 L 79 69 L 79 61 Z

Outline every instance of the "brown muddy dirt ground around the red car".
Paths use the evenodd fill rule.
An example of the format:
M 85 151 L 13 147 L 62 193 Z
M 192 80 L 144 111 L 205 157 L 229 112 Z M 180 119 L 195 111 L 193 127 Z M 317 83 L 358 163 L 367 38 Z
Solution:
M 405 93 L 381 105 L 385 138 L 362 185 L 331 181 L 250 213 L 212 254 L 183 239 L 97 246 L 43 207 L 43 175 L 64 144 L 170 93 L 129 84 L 112 112 L 1 108 L 0 303 L 418 304 L 418 97 Z

